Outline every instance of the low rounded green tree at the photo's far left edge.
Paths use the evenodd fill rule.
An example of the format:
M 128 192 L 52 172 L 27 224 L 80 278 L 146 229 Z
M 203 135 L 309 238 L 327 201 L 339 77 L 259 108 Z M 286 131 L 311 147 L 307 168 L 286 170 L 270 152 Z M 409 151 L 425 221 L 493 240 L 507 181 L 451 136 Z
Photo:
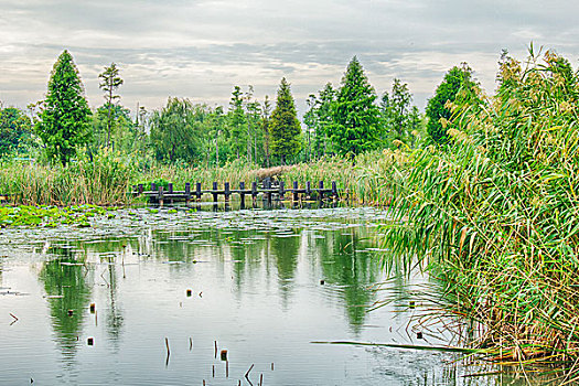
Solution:
M 0 154 L 24 153 L 33 146 L 29 117 L 18 108 L 0 105 Z

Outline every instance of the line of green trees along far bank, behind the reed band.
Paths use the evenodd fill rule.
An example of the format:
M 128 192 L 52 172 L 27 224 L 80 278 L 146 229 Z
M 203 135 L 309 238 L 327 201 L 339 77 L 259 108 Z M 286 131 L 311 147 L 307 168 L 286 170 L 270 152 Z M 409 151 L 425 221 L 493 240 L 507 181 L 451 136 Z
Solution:
M 275 100 L 255 97 L 253 86 L 234 86 L 229 104 L 208 106 L 169 97 L 165 106 L 131 111 L 120 104 L 124 84 L 111 63 L 99 75 L 105 103 L 90 110 L 78 68 L 64 51 L 51 73 L 44 100 L 29 111 L 0 105 L 0 154 L 35 153 L 66 164 L 79 148 L 89 153 L 115 149 L 142 159 L 196 165 L 223 165 L 244 159 L 262 167 L 355 156 L 365 151 L 415 147 L 447 140 L 448 103 L 475 95 L 472 71 L 450 69 L 429 99 L 426 115 L 412 105 L 408 85 L 395 78 L 378 97 L 356 56 L 339 87 L 331 83 L 307 99 L 298 119 L 290 83 L 283 77 Z M 469 98 L 469 97 L 462 97 Z

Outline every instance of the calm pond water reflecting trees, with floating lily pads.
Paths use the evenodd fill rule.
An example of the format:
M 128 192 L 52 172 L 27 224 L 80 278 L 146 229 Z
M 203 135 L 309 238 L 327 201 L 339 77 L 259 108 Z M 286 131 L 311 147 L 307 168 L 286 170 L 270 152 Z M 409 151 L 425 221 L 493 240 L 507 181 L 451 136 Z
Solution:
M 386 279 L 374 242 L 383 212 L 115 213 L 85 229 L 0 234 L 0 385 L 504 380 L 463 377 L 469 369 L 448 353 L 311 343 L 441 343 L 416 339 L 407 300 L 366 312 L 388 290 L 425 281 L 371 288 Z

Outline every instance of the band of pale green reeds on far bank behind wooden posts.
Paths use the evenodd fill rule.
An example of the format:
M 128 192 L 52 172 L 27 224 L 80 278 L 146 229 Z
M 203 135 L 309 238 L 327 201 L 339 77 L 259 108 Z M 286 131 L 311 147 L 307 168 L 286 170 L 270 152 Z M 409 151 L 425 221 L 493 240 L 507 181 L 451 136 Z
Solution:
M 336 181 L 341 192 L 365 204 L 384 204 L 390 196 L 392 186 L 386 183 L 392 167 L 401 156 L 399 152 L 377 151 L 358 156 L 355 161 L 334 157 L 285 168 L 260 169 L 242 161 L 228 163 L 223 168 L 173 167 L 167 164 L 139 165 L 139 160 L 130 154 L 119 154 L 103 150 L 93 156 L 81 154 L 68 167 L 41 165 L 21 161 L 3 161 L 0 164 L 0 194 L 8 194 L 11 204 L 23 205 L 124 205 L 130 204 L 126 193 L 131 185 L 151 182 L 172 182 L 175 190 L 183 189 L 185 182 L 201 182 L 208 187 L 212 183 L 239 182 L 249 184 L 260 181 L 265 175 L 286 182 L 289 187 L 293 181 L 312 187 L 319 181 L 330 186 Z

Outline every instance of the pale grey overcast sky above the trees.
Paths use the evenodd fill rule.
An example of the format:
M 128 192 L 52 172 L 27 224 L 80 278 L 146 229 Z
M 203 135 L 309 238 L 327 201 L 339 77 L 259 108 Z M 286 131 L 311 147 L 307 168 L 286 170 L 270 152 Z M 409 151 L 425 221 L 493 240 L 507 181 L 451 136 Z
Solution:
M 40 100 L 60 53 L 75 58 L 90 106 L 115 62 L 121 103 L 135 110 L 169 96 L 226 105 L 234 85 L 275 97 L 282 76 L 304 99 L 339 85 L 357 55 L 378 94 L 395 77 L 422 108 L 444 72 L 468 62 L 494 89 L 502 49 L 530 43 L 577 68 L 579 2 L 569 0 L 0 0 L 0 100 Z

